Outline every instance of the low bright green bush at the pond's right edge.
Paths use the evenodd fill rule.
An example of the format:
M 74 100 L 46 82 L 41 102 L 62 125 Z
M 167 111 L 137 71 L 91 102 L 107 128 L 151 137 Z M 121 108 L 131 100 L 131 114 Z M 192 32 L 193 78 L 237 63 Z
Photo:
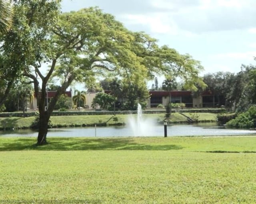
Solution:
M 226 126 L 230 128 L 256 128 L 256 106 L 238 114 L 236 118 L 227 122 Z

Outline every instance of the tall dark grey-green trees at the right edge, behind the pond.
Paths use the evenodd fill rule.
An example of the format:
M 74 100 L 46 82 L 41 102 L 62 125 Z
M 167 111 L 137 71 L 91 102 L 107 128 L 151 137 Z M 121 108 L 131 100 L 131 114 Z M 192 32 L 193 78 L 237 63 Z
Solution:
M 236 112 L 244 112 L 252 104 L 256 104 L 255 70 L 253 65 L 242 65 L 241 71 L 237 74 L 228 72 L 207 74 L 204 76 L 204 82 L 208 86 L 206 90 L 217 96 L 219 105 L 225 105 L 226 108 L 232 108 Z

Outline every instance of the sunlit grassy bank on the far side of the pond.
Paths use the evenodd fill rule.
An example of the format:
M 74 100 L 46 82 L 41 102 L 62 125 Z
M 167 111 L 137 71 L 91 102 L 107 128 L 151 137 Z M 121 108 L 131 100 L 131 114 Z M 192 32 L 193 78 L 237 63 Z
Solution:
M 198 113 L 199 121 L 212 120 L 215 121 L 217 114 L 214 113 Z M 189 115 L 188 115 L 189 116 Z M 116 115 L 116 120 L 110 115 L 96 115 L 96 116 L 52 116 L 51 121 L 53 127 L 81 127 L 93 126 L 94 124 L 102 125 L 120 125 L 127 122 L 130 115 Z M 136 117 L 136 115 L 132 115 Z M 144 118 L 151 118 L 156 122 L 162 122 L 165 119 L 165 114 L 144 114 Z M 30 128 L 35 117 L 10 117 L 0 118 L 0 129 L 24 129 Z M 172 123 L 185 123 L 187 118 L 178 113 L 171 115 Z

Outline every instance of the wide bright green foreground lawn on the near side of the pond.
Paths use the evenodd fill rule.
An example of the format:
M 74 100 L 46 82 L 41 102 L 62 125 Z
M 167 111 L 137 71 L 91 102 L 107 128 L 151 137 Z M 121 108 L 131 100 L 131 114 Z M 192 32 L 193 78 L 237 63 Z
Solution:
M 0 137 L 0 203 L 256 203 L 256 137 Z

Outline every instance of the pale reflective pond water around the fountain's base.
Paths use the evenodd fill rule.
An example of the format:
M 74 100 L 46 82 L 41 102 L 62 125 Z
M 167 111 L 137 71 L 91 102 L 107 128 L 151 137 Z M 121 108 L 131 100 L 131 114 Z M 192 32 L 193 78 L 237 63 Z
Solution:
M 37 137 L 37 132 L 30 129 L 0 131 L 0 137 Z M 256 130 L 226 129 L 216 124 L 172 125 L 167 126 L 167 136 L 228 136 L 251 135 Z M 47 137 L 133 137 L 164 136 L 164 126 L 148 126 L 142 135 L 136 134 L 128 126 L 87 127 L 87 128 L 53 128 L 48 130 Z

